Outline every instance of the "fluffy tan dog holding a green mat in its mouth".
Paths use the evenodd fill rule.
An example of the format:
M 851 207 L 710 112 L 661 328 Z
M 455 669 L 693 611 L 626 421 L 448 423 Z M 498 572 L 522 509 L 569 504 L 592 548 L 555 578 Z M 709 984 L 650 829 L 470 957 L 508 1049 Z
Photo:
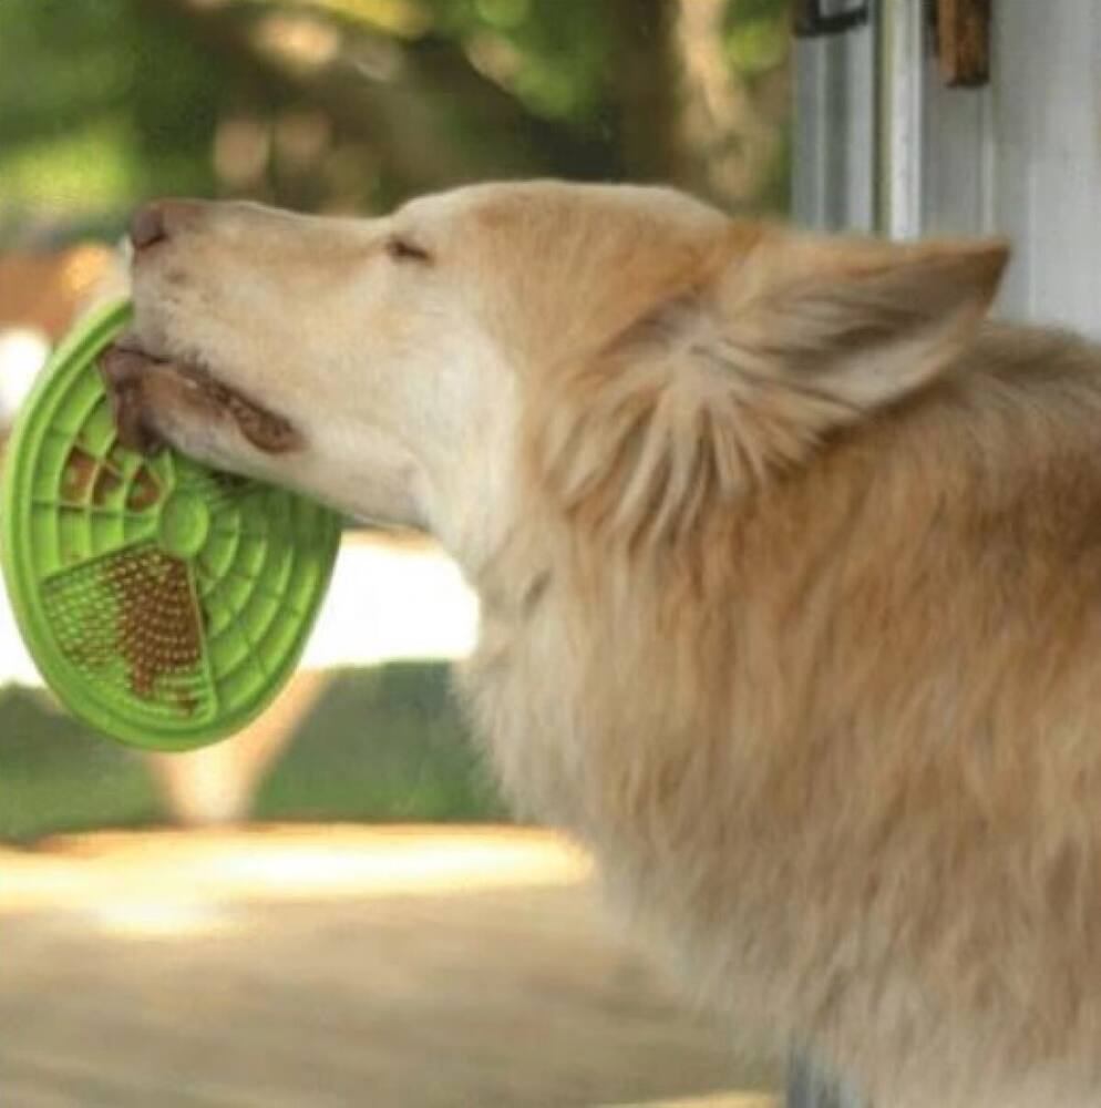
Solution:
M 517 810 L 877 1106 L 1101 1105 L 1101 351 L 1000 242 L 476 185 L 132 227 L 121 431 L 431 532 Z

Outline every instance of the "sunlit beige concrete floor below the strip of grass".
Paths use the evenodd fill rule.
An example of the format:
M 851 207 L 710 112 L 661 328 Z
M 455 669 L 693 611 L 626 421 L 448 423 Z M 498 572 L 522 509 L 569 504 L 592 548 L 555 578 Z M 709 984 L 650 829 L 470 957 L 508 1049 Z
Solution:
M 764 1108 L 773 1075 L 505 829 L 0 850 L 6 1108 Z

